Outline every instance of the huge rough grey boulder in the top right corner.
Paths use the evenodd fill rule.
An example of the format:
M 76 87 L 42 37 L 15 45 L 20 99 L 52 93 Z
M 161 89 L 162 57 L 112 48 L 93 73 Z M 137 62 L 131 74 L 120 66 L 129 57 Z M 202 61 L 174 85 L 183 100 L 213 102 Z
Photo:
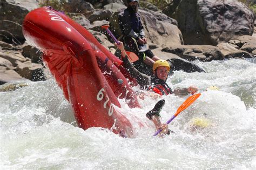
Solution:
M 175 0 L 164 12 L 177 19 L 185 44 L 217 45 L 254 29 L 253 12 L 235 0 Z

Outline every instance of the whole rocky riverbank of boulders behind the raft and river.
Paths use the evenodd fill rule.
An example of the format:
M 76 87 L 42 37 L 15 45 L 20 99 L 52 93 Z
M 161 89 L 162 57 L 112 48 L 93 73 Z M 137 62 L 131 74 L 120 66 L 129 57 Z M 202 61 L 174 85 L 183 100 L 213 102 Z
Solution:
M 22 33 L 25 15 L 39 8 L 40 2 L 0 2 L 0 84 L 48 78 L 44 74 L 42 53 L 27 44 Z M 125 0 L 100 3 L 69 0 L 65 5 L 66 14 L 90 30 L 111 52 L 116 51 L 111 38 L 100 26 L 110 24 L 111 31 L 120 36 L 117 16 L 126 8 Z M 245 4 L 227 0 L 180 0 L 173 1 L 163 11 L 149 3 L 143 6 L 147 8 L 140 8 L 139 12 L 149 47 L 157 56 L 171 59 L 176 70 L 200 71 L 190 63 L 196 59 L 210 62 L 256 57 L 256 22 L 254 13 Z

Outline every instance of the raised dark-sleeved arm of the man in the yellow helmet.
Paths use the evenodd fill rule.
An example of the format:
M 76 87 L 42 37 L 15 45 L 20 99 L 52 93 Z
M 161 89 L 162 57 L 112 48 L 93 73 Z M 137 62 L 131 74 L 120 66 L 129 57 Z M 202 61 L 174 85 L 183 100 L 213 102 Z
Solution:
M 146 74 L 143 74 L 141 72 L 139 72 L 129 61 L 127 54 L 124 50 L 124 45 L 123 42 L 119 42 L 120 45 L 115 44 L 118 49 L 121 51 L 121 56 L 124 62 L 124 67 L 127 71 L 129 71 L 129 73 L 131 74 L 131 76 L 133 78 L 136 78 L 137 82 L 139 85 L 141 86 L 147 86 L 151 84 L 151 79 L 149 76 L 147 76 Z

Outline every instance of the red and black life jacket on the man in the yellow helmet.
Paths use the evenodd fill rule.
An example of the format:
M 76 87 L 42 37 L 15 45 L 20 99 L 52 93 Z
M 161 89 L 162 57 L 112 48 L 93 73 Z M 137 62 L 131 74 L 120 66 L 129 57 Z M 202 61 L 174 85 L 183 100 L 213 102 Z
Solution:
M 160 84 L 151 85 L 147 88 L 147 91 L 153 91 L 162 95 L 172 94 L 172 89 L 165 83 L 165 81 L 159 82 Z

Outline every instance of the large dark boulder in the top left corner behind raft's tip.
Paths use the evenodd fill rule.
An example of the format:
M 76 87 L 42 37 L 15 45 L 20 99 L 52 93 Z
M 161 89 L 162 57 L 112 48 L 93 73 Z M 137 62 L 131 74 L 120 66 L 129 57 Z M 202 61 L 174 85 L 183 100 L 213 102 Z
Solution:
M 23 19 L 29 11 L 38 7 L 38 1 L 36 0 L 2 0 L 0 7 L 0 39 L 11 44 L 24 43 Z

